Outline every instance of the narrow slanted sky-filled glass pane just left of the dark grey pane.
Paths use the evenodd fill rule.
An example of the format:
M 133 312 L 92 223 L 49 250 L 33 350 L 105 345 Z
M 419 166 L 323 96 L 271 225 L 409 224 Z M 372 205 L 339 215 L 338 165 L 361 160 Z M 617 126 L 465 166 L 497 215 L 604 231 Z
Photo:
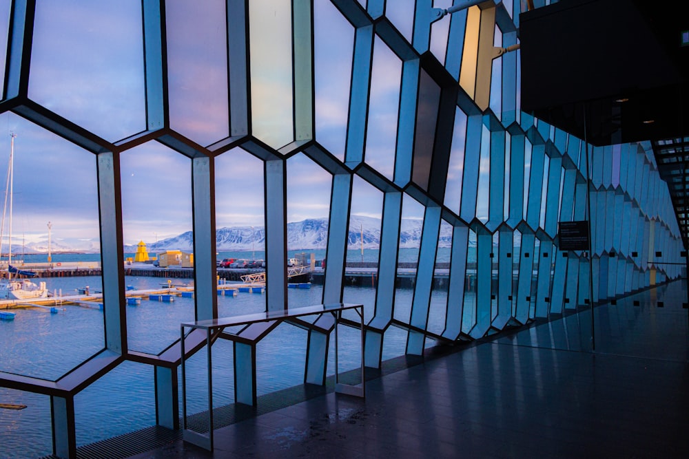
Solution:
M 395 173 L 402 61 L 379 38 L 373 45 L 365 160 L 390 180 Z

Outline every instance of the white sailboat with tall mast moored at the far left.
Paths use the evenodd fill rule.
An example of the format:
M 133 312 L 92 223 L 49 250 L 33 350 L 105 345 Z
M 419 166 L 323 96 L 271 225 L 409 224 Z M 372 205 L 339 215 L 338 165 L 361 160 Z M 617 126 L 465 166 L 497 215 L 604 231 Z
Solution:
M 9 211 L 10 211 L 10 224 L 9 224 L 9 250 L 8 250 L 8 270 L 7 277 L 0 281 L 0 299 L 35 299 L 35 298 L 45 298 L 48 297 L 48 289 L 45 288 L 45 282 L 41 281 L 36 284 L 29 279 L 20 279 L 19 276 L 29 276 L 35 277 L 36 273 L 28 270 L 20 270 L 12 266 L 12 193 L 14 191 L 14 138 L 17 137 L 16 134 L 10 134 L 12 136 L 12 144 L 10 147 L 10 167 L 8 169 L 8 183 L 5 195 L 5 211 L 3 211 L 3 224 L 5 222 L 5 213 L 8 210 L 8 199 L 10 201 Z M 1 236 L 0 236 L 1 240 Z M 12 275 L 15 277 L 12 278 Z

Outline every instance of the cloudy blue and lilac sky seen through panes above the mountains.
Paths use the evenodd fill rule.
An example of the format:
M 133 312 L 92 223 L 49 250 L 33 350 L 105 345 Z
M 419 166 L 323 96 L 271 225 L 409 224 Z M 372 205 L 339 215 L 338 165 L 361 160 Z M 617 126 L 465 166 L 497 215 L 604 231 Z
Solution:
M 404 0 L 400 7 L 402 3 L 413 1 Z M 3 30 L 8 5 L 0 0 Z M 291 35 L 290 5 L 288 0 L 249 2 L 254 134 L 276 149 L 292 140 L 291 45 L 285 39 Z M 390 18 L 411 38 L 413 8 L 409 11 L 399 8 Z M 327 1 L 315 2 L 314 17 L 316 140 L 342 160 L 354 30 Z M 448 24 L 437 24 L 431 45 L 444 54 Z M 223 2 L 168 1 L 167 28 L 171 126 L 200 145 L 210 145 L 229 135 Z M 37 2 L 35 31 L 32 100 L 111 142 L 145 129 L 141 1 Z M 6 49 L 3 43 L 0 47 Z M 367 162 L 392 178 L 401 62 L 380 39 L 374 50 L 371 134 L 365 148 Z M 47 239 L 48 222 L 53 241 L 97 239 L 95 156 L 16 114 L 0 114 L 3 196 L 12 133 L 17 135 L 15 243 Z M 299 154 L 287 162 L 287 181 L 288 221 L 327 217 L 328 173 Z M 125 244 L 154 242 L 192 229 L 189 158 L 147 142 L 122 154 L 121 182 Z M 354 186 L 352 213 L 380 217 L 382 193 L 362 180 Z M 260 160 L 240 148 L 216 158 L 218 228 L 263 226 L 263 201 Z M 408 212 L 422 217 L 422 211 Z M 5 239 L 7 232 L 8 222 L 3 225 Z

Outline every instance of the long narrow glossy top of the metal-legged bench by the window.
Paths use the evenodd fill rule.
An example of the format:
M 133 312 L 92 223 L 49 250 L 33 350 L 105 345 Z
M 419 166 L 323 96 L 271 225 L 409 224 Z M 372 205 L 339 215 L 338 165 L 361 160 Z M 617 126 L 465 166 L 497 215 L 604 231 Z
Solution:
M 183 322 L 181 323 L 181 326 L 200 328 L 203 330 L 216 330 L 218 328 L 232 327 L 233 325 L 247 325 L 249 323 L 285 320 L 293 317 L 307 316 L 310 314 L 338 312 L 356 308 L 363 309 L 364 305 L 356 303 L 317 304 L 314 306 L 302 306 L 301 308 L 289 308 L 278 311 L 256 312 L 255 314 L 244 314 L 240 316 L 218 317 L 218 319 L 209 319 L 203 321 Z

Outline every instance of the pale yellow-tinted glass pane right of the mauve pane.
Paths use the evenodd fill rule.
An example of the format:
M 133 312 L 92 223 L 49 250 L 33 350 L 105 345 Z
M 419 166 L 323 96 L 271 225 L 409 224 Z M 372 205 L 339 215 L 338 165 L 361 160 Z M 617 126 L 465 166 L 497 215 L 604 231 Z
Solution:
M 274 149 L 294 140 L 291 17 L 289 0 L 249 1 L 251 127 Z

